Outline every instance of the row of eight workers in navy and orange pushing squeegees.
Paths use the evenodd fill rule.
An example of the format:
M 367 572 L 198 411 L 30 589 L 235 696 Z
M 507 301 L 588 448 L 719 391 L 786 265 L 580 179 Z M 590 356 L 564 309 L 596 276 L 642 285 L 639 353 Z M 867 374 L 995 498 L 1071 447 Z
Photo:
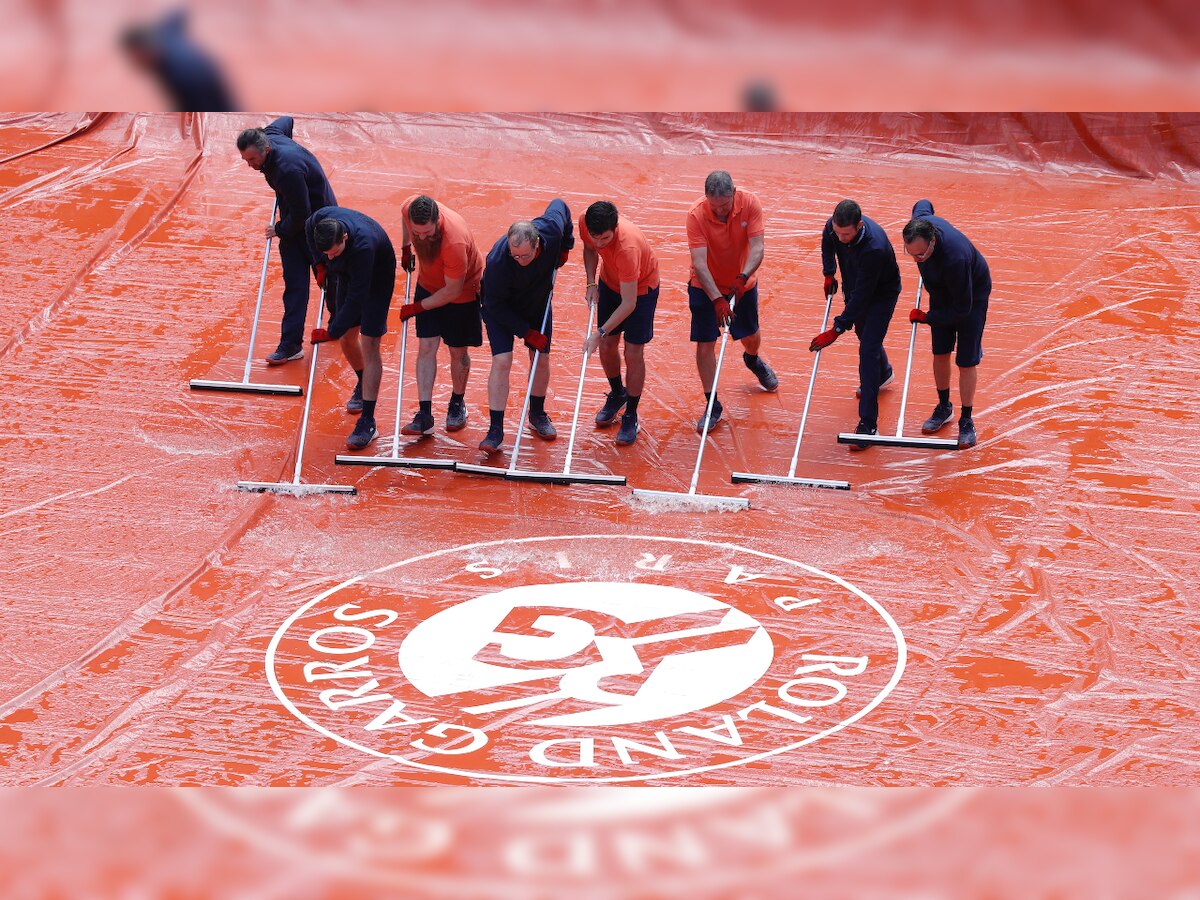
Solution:
M 396 286 L 397 258 L 386 230 L 370 216 L 337 205 L 329 179 L 311 151 L 293 139 L 290 116 L 238 136 L 246 163 L 263 173 L 275 191 L 278 218 L 268 235 L 278 239 L 283 269 L 283 319 L 278 347 L 266 358 L 282 365 L 304 356 L 304 326 L 311 280 L 324 292 L 328 324 L 312 329 L 312 343 L 337 341 L 358 376 L 347 410 L 358 413 L 347 438 L 352 449 L 377 437 L 374 410 L 383 373 L 380 340 Z M 546 412 L 553 334 L 553 289 L 557 270 L 575 246 L 576 226 L 583 245 L 589 306 L 584 354 L 599 352 L 608 379 L 595 424 L 618 421 L 616 442 L 637 440 L 638 404 L 646 384 L 644 348 L 654 337 L 659 299 L 659 264 L 637 226 L 608 200 L 587 208 L 572 220 L 562 199 L 552 200 L 532 220 L 514 222 L 486 257 L 463 217 L 432 197 L 409 197 L 401 206 L 400 268 L 416 274 L 412 300 L 400 307 L 400 319 L 415 319 L 418 409 L 401 428 L 408 436 L 433 433 L 432 400 L 438 350 L 450 355 L 451 394 L 445 430 L 467 424 L 464 402 L 472 347 L 482 344 L 484 330 L 492 352 L 487 379 L 490 422 L 480 450 L 497 452 L 504 443 L 512 354 L 520 340 L 529 353 L 532 382 L 528 424 L 552 440 L 554 425 Z M 704 196 L 689 210 L 688 283 L 691 341 L 704 392 L 704 413 L 696 431 L 706 433 L 724 415 L 712 397 L 716 384 L 716 343 L 721 330 L 742 343 L 742 359 L 766 391 L 779 378 L 763 359 L 758 324 L 756 272 L 763 260 L 764 220 L 758 198 L 738 188 L 727 172 L 713 172 Z M 941 431 L 954 416 L 950 403 L 952 354 L 959 368 L 960 418 L 958 444 L 972 446 L 977 366 L 983 356 L 983 329 L 991 292 L 988 263 L 967 238 L 934 214 L 929 200 L 918 200 L 901 238 L 913 258 L 929 298 L 928 308 L 914 307 L 910 322 L 931 331 L 937 406 L 922 426 L 925 434 Z M 878 431 L 878 392 L 893 380 L 883 349 L 896 301 L 900 270 L 883 228 L 863 215 L 853 200 L 842 200 L 824 226 L 821 239 L 824 294 L 832 302 L 838 278 L 845 306 L 833 326 L 812 338 L 810 350 L 832 344 L 853 329 L 859 342 L 858 434 Z M 407 326 L 407 324 L 406 324 Z M 624 372 L 622 371 L 624 362 Z M 709 402 L 712 400 L 712 402 Z M 706 421 L 707 416 L 707 421 Z M 851 450 L 868 446 L 852 443 Z

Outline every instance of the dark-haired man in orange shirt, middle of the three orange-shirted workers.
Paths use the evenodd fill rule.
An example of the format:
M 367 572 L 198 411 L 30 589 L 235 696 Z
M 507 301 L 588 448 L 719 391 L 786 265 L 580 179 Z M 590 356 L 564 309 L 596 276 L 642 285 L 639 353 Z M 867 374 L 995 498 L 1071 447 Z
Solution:
M 600 365 L 608 378 L 608 396 L 596 413 L 596 425 L 612 425 L 620 416 L 617 443 L 637 440 L 637 406 L 646 386 L 646 344 L 654 338 L 654 311 L 659 304 L 659 260 L 641 229 L 618 221 L 617 208 L 596 200 L 580 218 L 583 270 L 588 277 L 588 305 L 596 308 L 596 329 L 583 344 L 584 355 L 600 349 Z M 600 278 L 596 280 L 596 266 Z M 620 338 L 625 338 L 625 376 L 620 380 Z

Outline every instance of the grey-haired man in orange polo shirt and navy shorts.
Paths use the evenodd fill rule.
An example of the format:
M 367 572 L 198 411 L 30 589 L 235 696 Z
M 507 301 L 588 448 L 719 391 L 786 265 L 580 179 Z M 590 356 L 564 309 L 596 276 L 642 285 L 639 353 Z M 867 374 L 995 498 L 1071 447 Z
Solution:
M 742 341 L 742 359 L 763 390 L 779 388 L 779 378 L 758 350 L 758 283 L 764 234 L 762 204 L 749 191 L 733 186 L 730 173 L 716 170 L 704 179 L 704 196 L 688 212 L 688 248 L 691 280 L 691 340 L 696 343 L 696 370 L 704 391 L 704 408 L 716 380 L 716 340 L 721 329 Z M 696 431 L 704 433 L 721 421 L 724 407 L 713 401 L 707 428 L 704 415 Z

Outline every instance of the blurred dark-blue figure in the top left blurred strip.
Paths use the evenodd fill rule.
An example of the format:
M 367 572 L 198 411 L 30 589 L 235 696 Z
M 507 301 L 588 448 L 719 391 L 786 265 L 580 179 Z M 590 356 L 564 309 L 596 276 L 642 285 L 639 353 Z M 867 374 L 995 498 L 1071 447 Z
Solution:
M 217 64 L 187 35 L 186 10 L 176 10 L 158 22 L 130 25 L 121 32 L 121 48 L 133 65 L 158 79 L 176 110 L 217 113 L 238 108 Z

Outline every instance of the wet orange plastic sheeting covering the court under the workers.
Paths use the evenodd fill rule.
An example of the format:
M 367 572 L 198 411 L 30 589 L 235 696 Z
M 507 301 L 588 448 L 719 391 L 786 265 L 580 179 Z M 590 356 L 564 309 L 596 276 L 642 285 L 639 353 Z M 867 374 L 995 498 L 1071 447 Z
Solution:
M 749 498 L 739 514 L 635 503 L 629 488 L 335 466 L 353 426 L 342 408 L 353 376 L 324 348 L 302 480 L 353 484 L 359 496 L 238 492 L 239 480 L 290 479 L 302 409 L 295 398 L 187 389 L 191 378 L 241 373 L 271 198 L 233 142 L 265 119 L 44 115 L 0 130 L 10 223 L 0 262 L 5 782 L 1194 779 L 1194 116 L 298 120 L 296 137 L 322 158 L 340 200 L 394 234 L 400 203 L 418 191 L 462 212 L 481 246 L 554 196 L 576 216 L 612 199 L 642 227 L 662 271 L 643 431 L 617 448 L 611 431 L 590 426 L 606 389 L 593 361 L 574 463 L 624 474 L 631 487 L 686 490 L 697 450 L 686 209 L 714 168 L 756 192 L 768 216 L 763 353 L 781 386 L 760 391 L 731 346 L 720 384 L 727 421 L 710 437 L 698 488 Z M 799 474 L 853 490 L 731 485 L 731 472 L 788 468 L 808 343 L 824 307 L 820 229 L 842 197 L 858 199 L 898 246 L 913 200 L 929 197 L 989 259 L 980 443 L 853 455 L 836 444 L 857 420 L 847 336 L 822 354 Z M 886 344 L 900 373 L 910 336 L 900 311 L 911 306 L 916 266 L 901 259 L 901 274 Z M 564 462 L 583 281 L 572 258 L 556 295 L 547 403 L 562 437 L 523 442 L 530 469 Z M 260 361 L 275 344 L 280 289 L 272 259 L 254 379 L 304 383 L 307 362 L 268 371 Z M 396 334 L 384 341 L 385 434 L 373 452 L 389 449 Z M 414 349 L 410 340 L 409 404 Z M 473 359 L 467 430 L 439 426 L 404 452 L 478 461 L 486 347 Z M 509 448 L 523 372 L 518 360 Z M 439 422 L 448 390 L 443 354 Z M 898 379 L 881 401 L 881 431 L 895 428 L 900 397 Z M 906 433 L 935 400 L 922 332 Z M 581 587 L 542 605 L 514 602 L 496 620 L 486 604 L 464 606 L 502 590 L 594 582 L 637 586 L 629 596 L 644 598 L 643 618 L 637 602 L 624 618 L 608 599 L 566 608 Z M 672 589 L 689 599 L 672 606 Z M 655 635 L 671 628 L 695 629 L 685 644 L 701 632 L 707 643 L 655 650 L 653 666 L 643 654 L 608 674 L 588 670 L 587 690 L 559 688 L 564 704 L 553 685 L 594 665 L 602 642 L 568 653 L 558 631 L 563 643 L 551 647 L 545 626 L 562 620 L 539 625 L 522 612 L 542 606 L 623 652 L 662 647 Z M 454 623 L 438 618 L 455 608 L 468 612 L 461 646 Z M 652 620 L 655 611 L 664 618 Z M 475 635 L 480 622 L 494 635 Z M 422 623 L 421 635 L 440 636 L 406 649 Z M 314 638 L 322 628 L 341 630 Z M 761 641 L 751 646 L 760 631 L 769 638 L 762 653 Z M 474 655 L 468 637 L 479 640 Z M 463 670 L 451 677 L 434 665 L 433 682 L 415 688 L 420 662 L 448 647 L 466 654 Z M 335 677 L 332 666 L 360 655 L 370 662 Z M 700 665 L 678 659 L 689 655 Z M 524 660 L 510 666 L 509 686 L 492 672 L 469 702 L 456 695 L 474 689 L 455 680 L 468 662 L 502 656 Z M 534 683 L 536 666 L 554 671 Z M 653 680 L 672 671 L 684 673 L 674 686 Z M 686 696 L 676 702 L 713 682 L 727 696 L 702 709 Z M 676 712 L 630 712 L 630 697 L 652 684 Z M 365 697 L 384 698 L 352 702 Z M 761 706 L 743 715 L 754 703 L 792 715 Z M 488 712 L 463 712 L 472 706 Z M 608 720 L 551 721 L 604 708 Z M 454 726 L 484 732 L 486 744 L 464 751 L 472 733 Z M 575 743 L 547 745 L 539 762 L 534 746 L 552 740 Z M 588 740 L 593 766 L 582 764 Z M 580 764 L 566 764 L 571 754 Z

